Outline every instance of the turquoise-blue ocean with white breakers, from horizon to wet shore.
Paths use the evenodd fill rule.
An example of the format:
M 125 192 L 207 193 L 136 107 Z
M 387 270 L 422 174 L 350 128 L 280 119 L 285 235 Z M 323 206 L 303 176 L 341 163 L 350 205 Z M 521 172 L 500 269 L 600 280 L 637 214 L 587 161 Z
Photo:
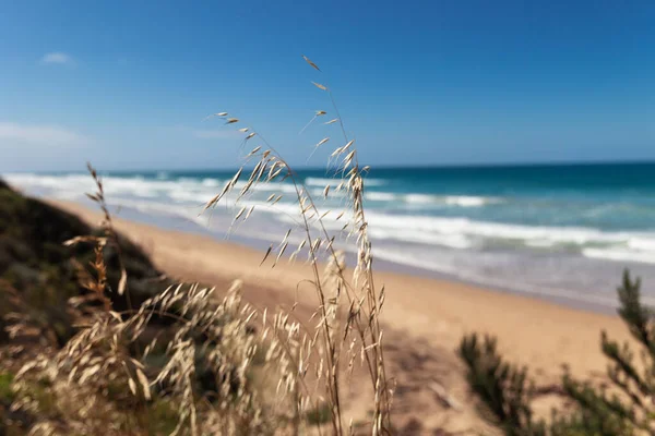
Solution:
M 298 218 L 286 182 L 260 186 L 243 202 L 255 206 L 252 216 L 233 226 L 240 206 L 199 216 L 231 171 L 102 173 L 112 210 L 131 219 L 267 246 Z M 93 191 L 81 172 L 2 177 L 36 196 L 85 202 Z M 336 185 L 324 170 L 298 177 L 314 197 Z M 283 197 L 266 206 L 273 193 Z M 373 254 L 385 268 L 606 310 L 630 268 L 655 304 L 655 164 L 373 168 L 365 199 Z M 319 203 L 340 210 L 344 198 Z M 330 216 L 326 223 L 337 233 L 343 226 Z

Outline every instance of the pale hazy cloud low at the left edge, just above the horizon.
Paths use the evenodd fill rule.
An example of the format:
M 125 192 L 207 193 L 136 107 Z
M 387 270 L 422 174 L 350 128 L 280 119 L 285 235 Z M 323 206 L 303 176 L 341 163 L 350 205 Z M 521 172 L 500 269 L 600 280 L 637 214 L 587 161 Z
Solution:
M 16 144 L 35 146 L 81 146 L 91 141 L 70 129 L 60 125 L 23 124 L 0 121 L 0 149 L 15 147 Z

